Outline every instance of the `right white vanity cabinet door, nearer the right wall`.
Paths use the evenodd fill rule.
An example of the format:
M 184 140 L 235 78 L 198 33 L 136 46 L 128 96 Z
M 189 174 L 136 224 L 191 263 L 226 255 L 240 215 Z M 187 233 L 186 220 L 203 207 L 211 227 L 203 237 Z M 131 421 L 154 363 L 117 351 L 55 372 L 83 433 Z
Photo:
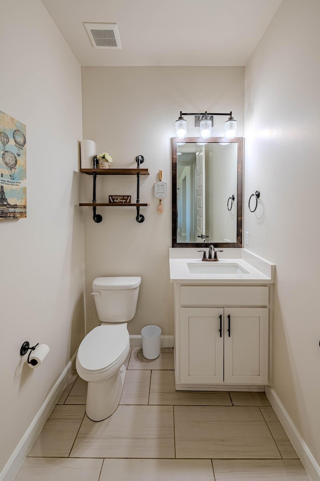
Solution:
M 224 382 L 268 383 L 268 309 L 224 308 Z

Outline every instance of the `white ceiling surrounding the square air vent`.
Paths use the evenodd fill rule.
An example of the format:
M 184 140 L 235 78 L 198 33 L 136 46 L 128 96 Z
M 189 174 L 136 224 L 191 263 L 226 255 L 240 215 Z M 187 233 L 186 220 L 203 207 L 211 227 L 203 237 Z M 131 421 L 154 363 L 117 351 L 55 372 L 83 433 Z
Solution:
M 243 66 L 282 0 L 42 0 L 82 66 Z M 122 50 L 83 22 L 116 23 Z

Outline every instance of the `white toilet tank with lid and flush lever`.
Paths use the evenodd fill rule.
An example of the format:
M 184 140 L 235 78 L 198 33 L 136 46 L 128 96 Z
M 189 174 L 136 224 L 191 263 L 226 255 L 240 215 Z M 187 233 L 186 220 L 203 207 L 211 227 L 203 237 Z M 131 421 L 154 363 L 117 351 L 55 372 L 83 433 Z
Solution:
M 92 282 L 100 322 L 128 322 L 135 314 L 140 277 L 97 277 Z

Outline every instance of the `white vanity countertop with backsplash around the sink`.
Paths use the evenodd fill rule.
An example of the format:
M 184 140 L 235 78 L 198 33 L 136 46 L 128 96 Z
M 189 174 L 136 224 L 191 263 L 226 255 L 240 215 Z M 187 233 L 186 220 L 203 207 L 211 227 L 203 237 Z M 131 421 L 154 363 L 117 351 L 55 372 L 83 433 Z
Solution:
M 179 252 L 178 252 L 179 251 Z M 223 254 L 223 255 L 222 255 Z M 273 284 L 275 265 L 245 249 L 224 249 L 219 261 L 203 262 L 196 249 L 169 249 L 170 282 L 177 284 Z M 183 256 L 183 257 L 181 257 Z M 188 264 L 208 266 L 238 265 L 237 274 L 190 273 Z

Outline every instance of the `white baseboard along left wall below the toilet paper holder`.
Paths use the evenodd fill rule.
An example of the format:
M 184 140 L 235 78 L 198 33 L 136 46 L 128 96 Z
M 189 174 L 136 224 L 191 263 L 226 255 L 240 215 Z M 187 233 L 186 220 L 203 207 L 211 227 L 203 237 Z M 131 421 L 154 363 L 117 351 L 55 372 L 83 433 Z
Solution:
M 74 370 L 75 356 L 76 352 L 72 356 L 71 360 L 68 362 L 67 366 L 59 376 L 54 386 L 52 387 L 39 411 L 35 415 L 33 421 L 23 434 L 20 442 L 18 443 L 9 460 L 0 472 L 0 481 L 13 481 L 27 453 L 31 449 L 37 435 L 41 431 L 50 412 L 52 411 L 57 400 L 59 399 L 66 383 L 68 382 L 72 374 L 72 371 Z

